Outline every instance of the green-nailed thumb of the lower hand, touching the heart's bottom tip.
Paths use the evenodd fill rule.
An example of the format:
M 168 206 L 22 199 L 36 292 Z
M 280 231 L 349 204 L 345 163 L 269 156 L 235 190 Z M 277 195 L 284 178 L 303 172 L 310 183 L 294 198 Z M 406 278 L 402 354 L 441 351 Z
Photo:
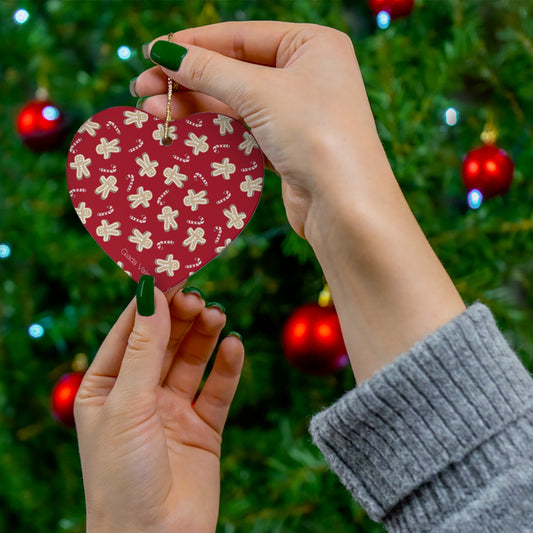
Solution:
M 152 276 L 141 276 L 136 300 L 135 323 L 115 384 L 122 392 L 155 389 L 170 337 L 168 302 L 165 295 L 154 288 Z

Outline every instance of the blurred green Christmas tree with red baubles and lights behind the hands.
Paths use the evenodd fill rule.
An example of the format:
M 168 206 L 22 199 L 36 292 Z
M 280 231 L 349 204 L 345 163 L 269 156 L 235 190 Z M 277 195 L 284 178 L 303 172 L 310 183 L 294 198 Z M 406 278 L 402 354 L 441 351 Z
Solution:
M 171 31 L 277 19 L 349 33 L 419 223 L 465 302 L 488 304 L 533 369 L 533 2 L 412 4 L 0 2 L 0 531 L 85 530 L 72 372 L 94 357 L 135 284 L 76 216 L 66 158 L 88 117 L 135 105 L 128 83 L 150 66 L 141 46 Z M 218 531 L 383 531 L 307 432 L 354 381 L 348 367 L 334 371 L 335 328 L 318 348 L 295 345 L 298 324 L 319 328 L 315 315 L 330 309 L 318 304 L 324 278 L 287 223 L 277 176 L 267 173 L 239 239 L 190 284 L 226 306 L 226 332 L 241 332 L 247 349 L 224 438 Z

